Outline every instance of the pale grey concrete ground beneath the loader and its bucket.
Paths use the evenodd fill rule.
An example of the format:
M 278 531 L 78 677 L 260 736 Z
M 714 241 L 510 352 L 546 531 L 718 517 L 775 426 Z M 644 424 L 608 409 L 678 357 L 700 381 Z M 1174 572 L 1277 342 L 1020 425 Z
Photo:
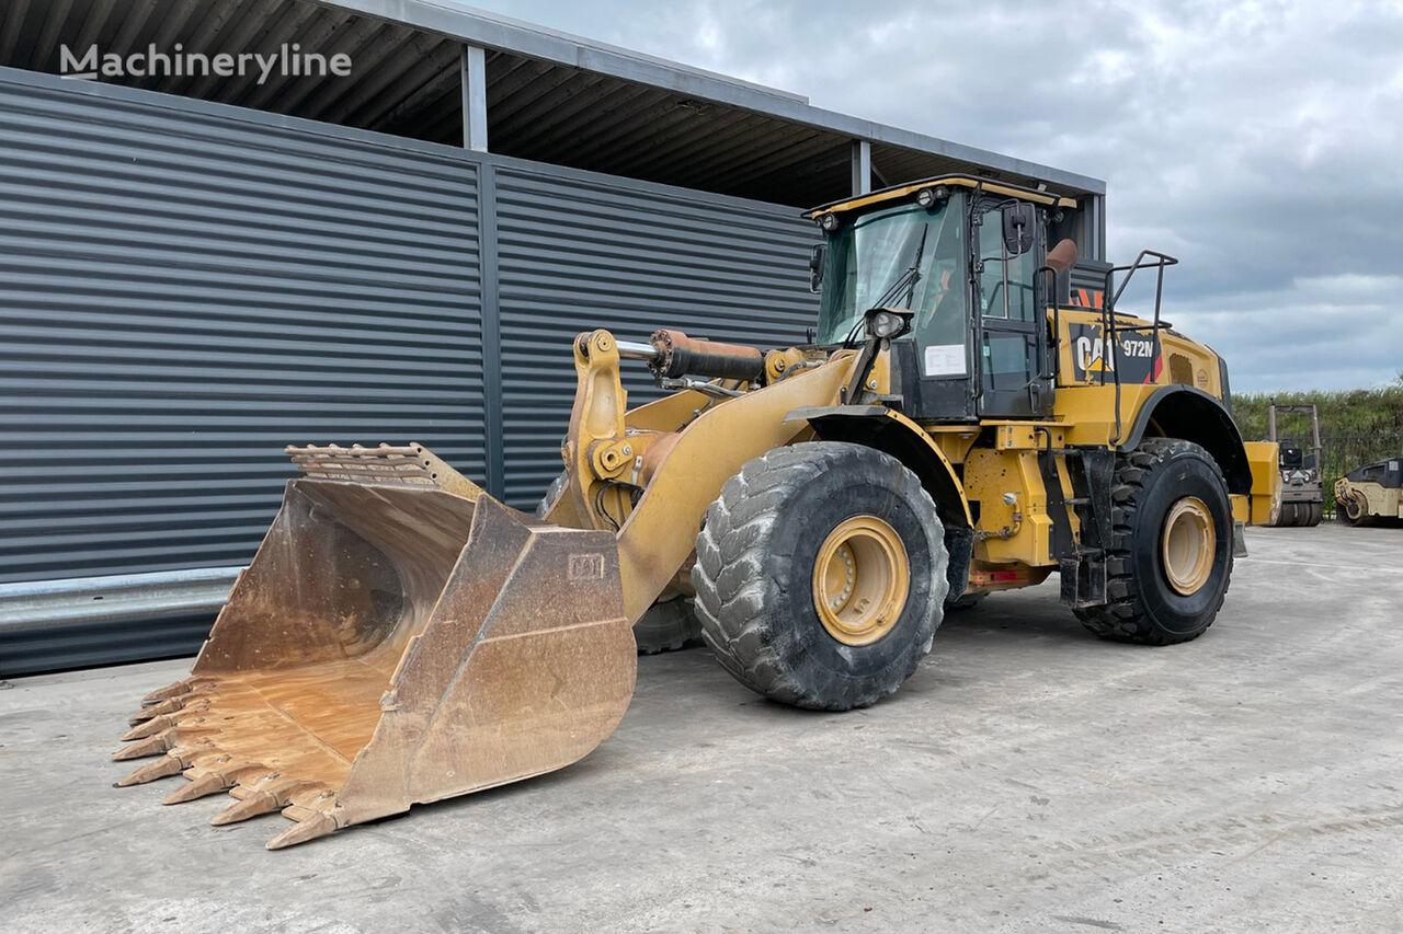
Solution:
M 1054 585 L 821 715 L 645 658 L 564 771 L 279 853 L 112 788 L 188 661 L 0 690 L 7 931 L 1403 930 L 1403 530 L 1253 529 L 1218 623 L 1099 642 Z

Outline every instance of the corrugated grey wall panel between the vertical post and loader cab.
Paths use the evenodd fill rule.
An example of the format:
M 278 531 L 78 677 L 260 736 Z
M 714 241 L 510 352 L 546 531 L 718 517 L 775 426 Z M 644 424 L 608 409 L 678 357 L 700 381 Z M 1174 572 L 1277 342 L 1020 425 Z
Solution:
M 815 227 L 791 209 L 598 175 L 499 167 L 505 496 L 530 508 L 561 471 L 575 372 L 571 339 L 609 328 L 790 346 L 814 325 Z M 654 398 L 624 362 L 630 405 Z

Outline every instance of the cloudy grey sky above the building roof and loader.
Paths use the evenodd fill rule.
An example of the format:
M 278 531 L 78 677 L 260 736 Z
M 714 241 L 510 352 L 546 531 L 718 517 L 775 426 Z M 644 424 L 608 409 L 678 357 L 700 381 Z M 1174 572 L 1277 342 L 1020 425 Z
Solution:
M 1403 372 L 1403 0 L 474 0 L 1107 180 L 1235 390 Z

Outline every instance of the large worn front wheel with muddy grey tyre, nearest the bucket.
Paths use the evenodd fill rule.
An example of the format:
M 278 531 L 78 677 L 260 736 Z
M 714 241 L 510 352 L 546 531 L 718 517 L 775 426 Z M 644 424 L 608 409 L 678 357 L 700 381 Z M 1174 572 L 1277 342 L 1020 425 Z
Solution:
M 936 505 L 901 461 L 811 442 L 727 481 L 697 536 L 692 583 L 702 635 L 738 682 L 842 711 L 877 703 L 916 670 L 940 625 L 947 564 Z M 853 618 L 821 613 L 815 595 Z

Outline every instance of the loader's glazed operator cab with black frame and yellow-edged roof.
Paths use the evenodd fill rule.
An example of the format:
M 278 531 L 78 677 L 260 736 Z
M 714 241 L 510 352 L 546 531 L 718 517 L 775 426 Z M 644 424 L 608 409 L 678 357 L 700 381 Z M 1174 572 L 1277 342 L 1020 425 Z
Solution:
M 859 345 L 868 309 L 906 309 L 911 331 L 891 345 L 892 393 L 906 415 L 1049 414 L 1047 233 L 1075 206 L 946 175 L 811 210 L 825 234 L 811 262 L 815 290 L 822 285 L 817 342 Z

